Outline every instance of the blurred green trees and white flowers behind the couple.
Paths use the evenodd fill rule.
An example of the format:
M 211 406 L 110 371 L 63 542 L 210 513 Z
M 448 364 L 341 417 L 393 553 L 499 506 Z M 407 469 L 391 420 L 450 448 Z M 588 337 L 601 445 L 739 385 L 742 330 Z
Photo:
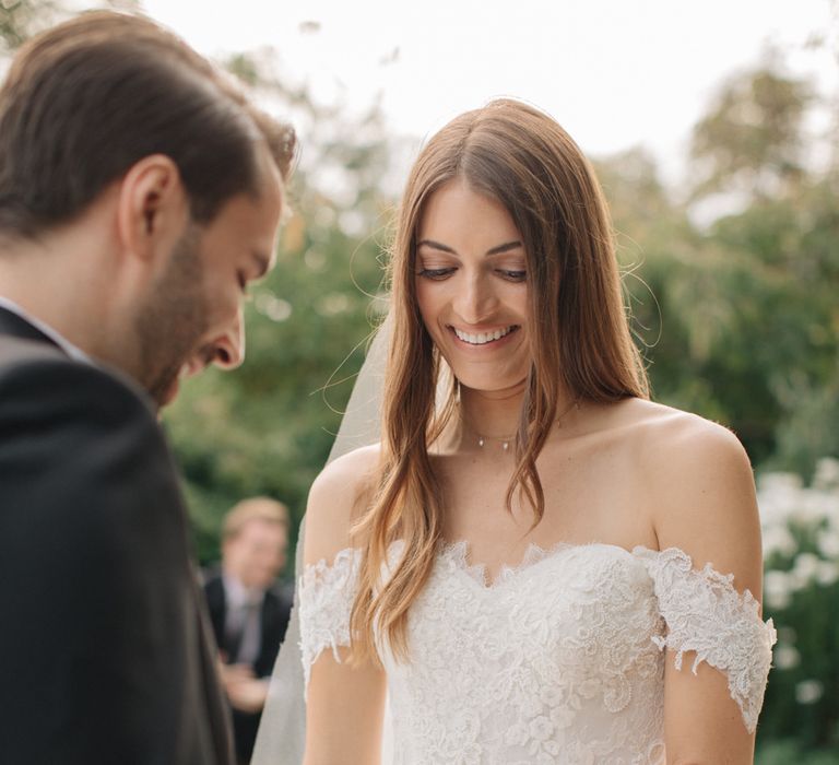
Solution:
M 7 57 L 70 10 L 4 0 Z M 202 563 L 243 496 L 302 517 L 381 305 L 394 158 L 416 146 L 375 103 L 361 117 L 316 103 L 270 51 L 222 63 L 294 121 L 306 153 L 277 267 L 247 305 L 245 365 L 190 381 L 166 413 Z M 681 188 L 640 149 L 595 161 L 654 398 L 731 427 L 758 474 L 779 627 L 763 765 L 839 762 L 839 462 L 823 459 L 839 458 L 838 106 L 776 55 L 720 83 Z M 814 114 L 834 115 L 817 136 Z

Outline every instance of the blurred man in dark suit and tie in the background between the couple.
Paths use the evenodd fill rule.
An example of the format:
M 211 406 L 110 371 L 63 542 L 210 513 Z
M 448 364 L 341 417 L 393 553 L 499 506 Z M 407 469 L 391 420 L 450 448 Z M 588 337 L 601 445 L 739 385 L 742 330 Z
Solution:
M 269 497 L 237 504 L 224 519 L 221 570 L 204 585 L 240 763 L 248 763 L 253 752 L 291 614 L 292 597 L 276 587 L 285 566 L 288 523 L 286 506 Z

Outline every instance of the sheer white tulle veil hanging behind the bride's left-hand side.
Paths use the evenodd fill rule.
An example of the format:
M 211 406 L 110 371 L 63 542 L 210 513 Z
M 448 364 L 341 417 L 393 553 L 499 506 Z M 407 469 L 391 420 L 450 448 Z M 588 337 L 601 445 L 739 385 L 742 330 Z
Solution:
M 380 440 L 381 390 L 390 325 L 391 319 L 386 319 L 370 343 L 328 462 L 359 446 Z M 297 541 L 295 576 L 299 576 L 303 570 L 305 532 L 306 519 L 304 518 Z M 251 765 L 300 765 L 303 762 L 306 704 L 299 649 L 299 603 L 296 589 L 291 622 L 274 666 Z

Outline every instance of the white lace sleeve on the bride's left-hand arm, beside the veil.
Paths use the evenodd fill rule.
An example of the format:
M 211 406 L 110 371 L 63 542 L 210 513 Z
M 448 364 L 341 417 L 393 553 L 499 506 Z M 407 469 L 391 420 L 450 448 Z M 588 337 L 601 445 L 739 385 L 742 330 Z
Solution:
M 332 649 L 336 661 L 339 646 L 350 645 L 350 613 L 355 598 L 361 550 L 346 548 L 332 564 L 318 561 L 303 569 L 299 578 L 300 652 L 306 688 L 309 674 L 321 651 Z

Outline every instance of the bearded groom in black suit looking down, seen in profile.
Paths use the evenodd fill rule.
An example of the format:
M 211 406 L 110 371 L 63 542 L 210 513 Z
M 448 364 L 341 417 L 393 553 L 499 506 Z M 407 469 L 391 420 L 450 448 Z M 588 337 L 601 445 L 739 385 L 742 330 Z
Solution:
M 0 90 L 0 761 L 232 762 L 156 410 L 237 366 L 294 134 L 174 35 L 95 13 Z

